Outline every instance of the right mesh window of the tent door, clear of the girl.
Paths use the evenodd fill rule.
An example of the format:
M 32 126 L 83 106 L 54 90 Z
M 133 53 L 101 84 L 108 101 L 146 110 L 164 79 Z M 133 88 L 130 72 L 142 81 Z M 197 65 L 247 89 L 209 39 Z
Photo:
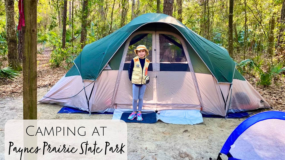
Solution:
M 159 34 L 160 71 L 190 71 L 181 42 L 174 36 Z

